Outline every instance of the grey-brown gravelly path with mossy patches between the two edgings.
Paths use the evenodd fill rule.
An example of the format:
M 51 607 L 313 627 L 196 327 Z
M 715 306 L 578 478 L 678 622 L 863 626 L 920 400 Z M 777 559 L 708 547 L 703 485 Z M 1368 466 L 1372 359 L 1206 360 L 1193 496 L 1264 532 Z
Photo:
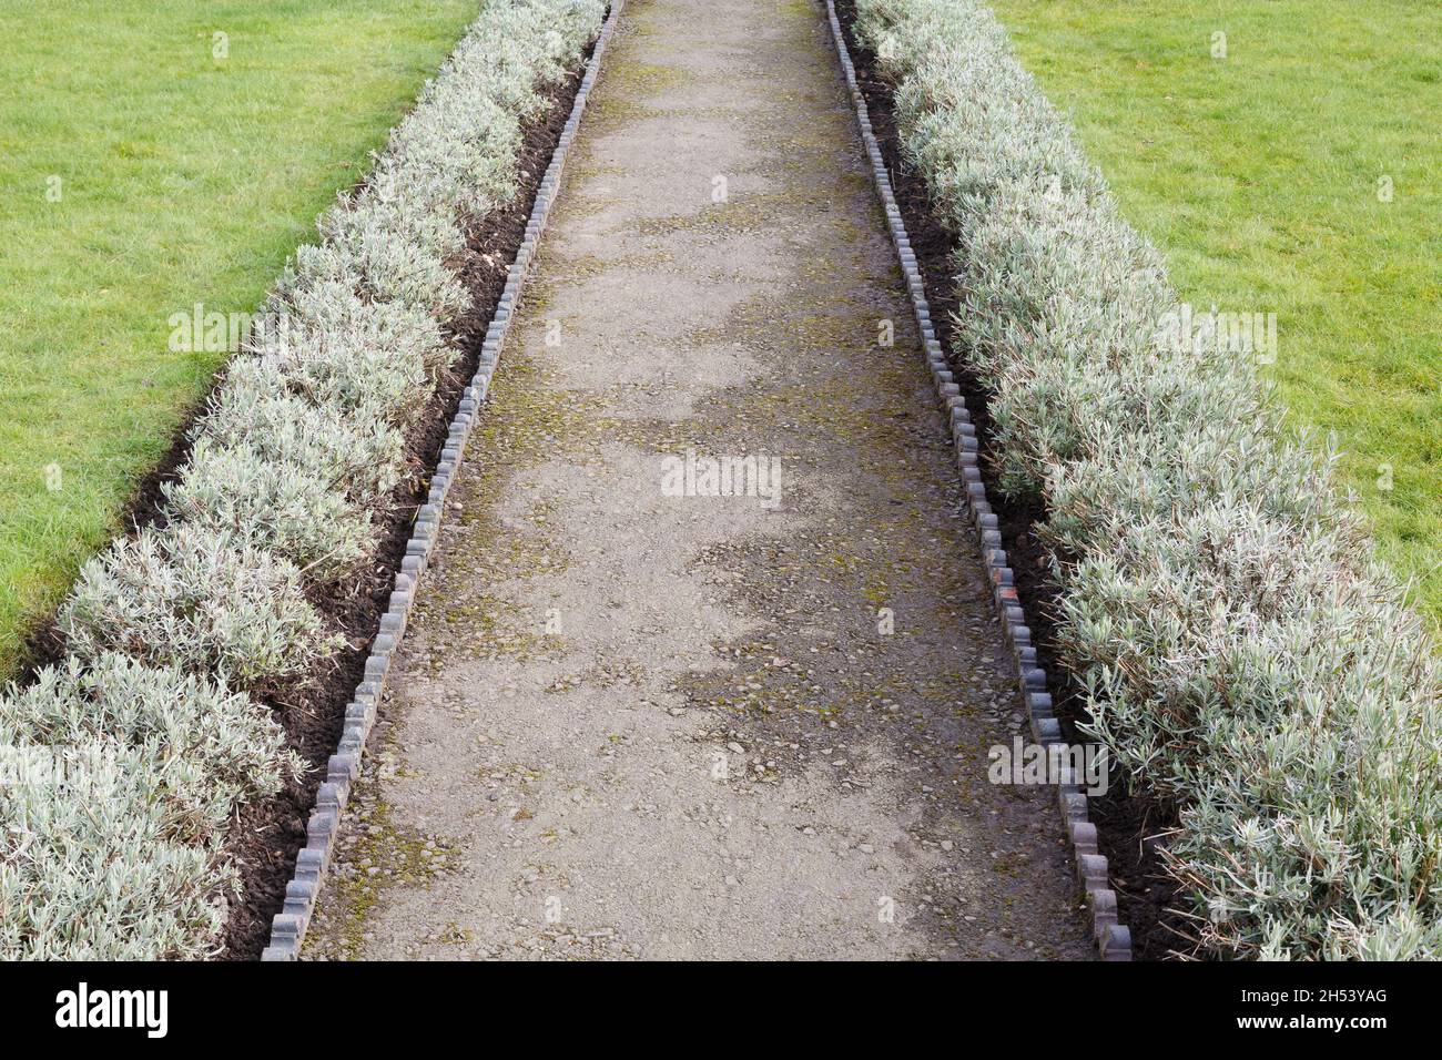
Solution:
M 852 123 L 627 4 L 307 958 L 1089 956 Z

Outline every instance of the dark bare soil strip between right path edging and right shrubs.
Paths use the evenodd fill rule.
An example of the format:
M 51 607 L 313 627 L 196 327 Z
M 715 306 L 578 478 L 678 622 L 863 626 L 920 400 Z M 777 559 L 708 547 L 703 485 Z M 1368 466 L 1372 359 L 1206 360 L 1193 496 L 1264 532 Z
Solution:
M 981 436 L 982 453 L 992 451 L 992 425 L 988 415 L 991 394 L 965 361 L 955 353 L 952 314 L 956 297 L 950 284 L 953 241 L 932 211 L 926 182 L 901 156 L 893 118 L 891 85 L 877 72 L 875 56 L 862 48 L 854 33 L 854 0 L 836 0 L 836 16 L 857 66 L 871 125 L 891 175 L 897 205 L 907 225 L 916 251 L 926 297 L 932 306 L 932 322 L 942 340 L 952 371 L 962 387 L 966 407 Z M 1045 511 L 1037 502 L 1014 500 L 1002 493 L 996 470 L 983 459 L 982 479 L 986 496 L 996 512 L 1002 544 L 1017 578 L 1017 591 L 1027 610 L 1037 645 L 1037 656 L 1047 671 L 1048 691 L 1067 740 L 1079 740 L 1077 723 L 1086 720 L 1086 707 L 1076 679 L 1056 662 L 1056 599 L 1057 587 L 1048 577 L 1047 554 L 1035 538 L 1034 526 L 1045 521 Z M 1159 959 L 1172 952 L 1191 952 L 1185 927 L 1187 919 L 1178 913 L 1177 883 L 1162 870 L 1158 854 L 1159 836 L 1175 823 L 1175 813 L 1146 798 L 1128 793 L 1131 783 L 1113 772 L 1112 790 L 1090 799 L 1092 819 L 1097 826 L 1099 848 L 1106 855 L 1116 888 L 1122 923 L 1132 930 L 1132 952 L 1138 959 Z

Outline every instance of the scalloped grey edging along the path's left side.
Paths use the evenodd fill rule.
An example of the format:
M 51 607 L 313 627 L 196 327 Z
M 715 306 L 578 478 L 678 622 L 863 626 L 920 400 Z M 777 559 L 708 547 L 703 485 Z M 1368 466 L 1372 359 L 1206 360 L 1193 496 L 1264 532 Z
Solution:
M 381 632 L 371 645 L 371 656 L 365 663 L 365 675 L 356 688 L 355 699 L 346 705 L 345 728 L 340 733 L 340 744 L 336 753 L 326 763 L 326 780 L 316 792 L 316 806 L 306 825 L 306 845 L 301 847 L 296 858 L 296 874 L 286 884 L 286 901 L 281 911 L 271 922 L 271 940 L 261 953 L 261 960 L 296 960 L 300 958 L 300 948 L 306 940 L 306 930 L 316 911 L 316 900 L 320 896 L 320 885 L 330 868 L 330 858 L 335 852 L 336 834 L 340 828 L 340 815 L 350 798 L 352 785 L 360 774 L 360 757 L 365 753 L 366 737 L 375 724 L 376 707 L 385 682 L 391 672 L 391 661 L 395 649 L 405 636 L 405 624 L 410 619 L 411 604 L 415 603 L 415 587 L 425 571 L 435 542 L 441 513 L 446 508 L 446 495 L 450 492 L 460 466 L 461 454 L 472 428 L 480 415 L 486 391 L 490 388 L 490 376 L 496 371 L 500 349 L 505 345 L 506 333 L 510 327 L 510 317 L 515 313 L 525 287 L 531 262 L 535 260 L 536 244 L 545 231 L 547 218 L 551 213 L 551 203 L 561 187 L 561 170 L 565 157 L 575 138 L 575 130 L 585 110 L 585 100 L 596 84 L 596 75 L 601 68 L 601 56 L 606 43 L 610 40 L 616 22 L 620 17 L 626 0 L 611 0 L 606 22 L 596 37 L 596 48 L 591 50 L 585 74 L 581 76 L 581 87 L 575 92 L 575 102 L 571 105 L 571 115 L 561 130 L 547 166 L 541 185 L 536 187 L 535 205 L 526 221 L 525 238 L 516 249 L 516 258 L 506 274 L 506 286 L 502 290 L 496 313 L 486 329 L 486 337 L 480 348 L 480 363 L 472 376 L 470 385 L 461 394 L 460 408 L 451 420 L 450 433 L 441 449 L 440 461 L 431 476 L 431 492 L 425 505 L 417 512 L 415 529 L 405 545 L 405 558 L 401 560 L 401 570 L 395 575 L 395 590 L 391 593 L 391 603 L 385 614 L 381 616 Z

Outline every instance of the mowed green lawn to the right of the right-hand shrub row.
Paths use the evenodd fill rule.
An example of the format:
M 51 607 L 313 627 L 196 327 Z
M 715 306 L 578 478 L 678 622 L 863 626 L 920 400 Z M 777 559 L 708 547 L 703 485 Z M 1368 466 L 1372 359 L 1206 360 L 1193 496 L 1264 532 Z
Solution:
M 1182 300 L 1276 313 L 1283 404 L 1335 431 L 1381 557 L 1442 622 L 1442 4 L 995 9 Z

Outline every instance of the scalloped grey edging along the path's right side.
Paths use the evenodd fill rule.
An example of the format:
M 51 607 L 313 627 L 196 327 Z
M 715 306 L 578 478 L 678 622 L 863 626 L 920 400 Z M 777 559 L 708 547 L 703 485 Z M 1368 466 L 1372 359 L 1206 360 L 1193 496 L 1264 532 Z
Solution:
M 1002 548 L 996 515 L 986 500 L 986 486 L 982 483 L 978 463 L 976 428 L 972 425 L 970 412 L 966 410 L 962 389 L 952 375 L 950 365 L 947 365 L 942 343 L 936 337 L 936 329 L 932 326 L 932 310 L 926 300 L 921 271 L 917 267 L 916 254 L 911 251 L 911 239 L 906 231 L 906 222 L 901 219 L 901 211 L 891 190 L 891 177 L 887 175 L 885 160 L 881 156 L 881 144 L 877 143 L 877 137 L 871 130 L 867 101 L 861 92 L 861 87 L 857 84 L 857 68 L 851 62 L 846 37 L 841 32 L 835 0 L 826 0 L 826 16 L 831 22 L 832 40 L 836 43 L 836 55 L 846 74 L 846 88 L 851 91 L 851 101 L 855 104 L 857 121 L 861 125 L 861 140 L 871 163 L 871 176 L 877 185 L 877 193 L 881 196 L 881 205 L 885 208 L 891 242 L 897 248 L 901 274 L 911 294 L 911 309 L 916 313 L 917 329 L 921 332 L 927 366 L 932 369 L 937 397 L 947 410 L 952 441 L 956 446 L 956 461 L 966 483 L 966 505 L 981 544 L 982 560 L 986 564 L 986 575 L 992 586 L 992 600 L 1002 620 L 1002 632 L 1017 661 L 1017 672 L 1019 673 L 1021 694 L 1027 702 L 1031 736 L 1038 744 L 1050 747 L 1051 744 L 1061 743 L 1061 728 L 1056 714 L 1051 711 L 1051 695 L 1047 692 L 1047 673 L 1037 665 L 1037 649 L 1031 643 L 1031 627 L 1027 626 L 1027 616 L 1017 596 L 1012 571 L 1007 561 L 1007 551 Z M 1074 783 L 1057 785 L 1057 802 L 1061 811 L 1061 823 L 1071 839 L 1077 883 L 1086 894 L 1097 952 L 1103 960 L 1131 960 L 1132 933 L 1126 924 L 1118 922 L 1116 891 L 1112 890 L 1110 880 L 1107 878 L 1106 857 L 1097 852 L 1096 825 L 1089 818 L 1086 792 Z

